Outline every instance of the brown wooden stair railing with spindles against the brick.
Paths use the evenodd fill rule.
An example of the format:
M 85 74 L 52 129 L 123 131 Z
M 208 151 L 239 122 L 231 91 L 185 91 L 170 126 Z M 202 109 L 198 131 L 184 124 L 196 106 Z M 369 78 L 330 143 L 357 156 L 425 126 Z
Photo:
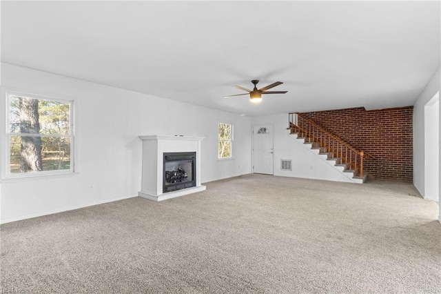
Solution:
M 289 113 L 289 129 L 291 133 L 298 133 L 300 137 L 309 139 L 309 142 L 318 144 L 320 148 L 327 148 L 328 152 L 340 158 L 340 163 L 349 164 L 354 175 L 363 177 L 363 159 L 373 156 L 363 150 L 357 150 L 334 134 L 331 134 L 315 121 L 297 112 Z

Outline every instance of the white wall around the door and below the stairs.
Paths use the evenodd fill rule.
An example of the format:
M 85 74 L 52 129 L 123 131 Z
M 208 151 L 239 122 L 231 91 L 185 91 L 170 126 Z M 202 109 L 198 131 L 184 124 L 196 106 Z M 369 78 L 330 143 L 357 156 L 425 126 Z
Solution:
M 302 146 L 300 140 L 288 135 L 288 114 L 252 117 L 252 125 L 272 124 L 274 126 L 274 175 L 327 179 L 336 182 L 351 182 L 334 167 L 327 164 Z M 292 171 L 280 170 L 280 160 L 291 159 Z

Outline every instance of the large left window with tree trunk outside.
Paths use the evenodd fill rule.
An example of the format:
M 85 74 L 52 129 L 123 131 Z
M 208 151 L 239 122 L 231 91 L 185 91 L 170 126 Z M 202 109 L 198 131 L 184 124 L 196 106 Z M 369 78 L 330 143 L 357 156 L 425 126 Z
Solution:
M 7 92 L 7 175 L 73 172 L 73 101 Z

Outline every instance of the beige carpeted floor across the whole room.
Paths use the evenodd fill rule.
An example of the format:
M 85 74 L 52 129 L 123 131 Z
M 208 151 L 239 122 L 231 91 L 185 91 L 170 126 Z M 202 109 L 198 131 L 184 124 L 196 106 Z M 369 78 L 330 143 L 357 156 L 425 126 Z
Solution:
M 411 184 L 245 175 L 1 225 L 1 293 L 441 293 Z

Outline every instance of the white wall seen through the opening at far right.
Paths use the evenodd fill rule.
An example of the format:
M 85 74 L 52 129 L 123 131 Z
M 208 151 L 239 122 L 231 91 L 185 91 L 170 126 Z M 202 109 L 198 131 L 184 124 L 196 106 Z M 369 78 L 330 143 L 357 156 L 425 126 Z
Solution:
M 439 200 L 440 94 L 424 106 L 424 199 Z

